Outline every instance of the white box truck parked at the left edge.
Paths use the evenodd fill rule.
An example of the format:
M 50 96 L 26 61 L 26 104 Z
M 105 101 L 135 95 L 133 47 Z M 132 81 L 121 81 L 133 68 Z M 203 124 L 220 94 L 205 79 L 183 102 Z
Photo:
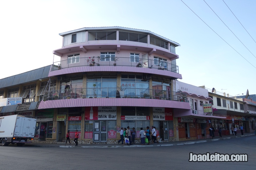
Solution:
M 17 143 L 17 146 L 31 143 L 35 135 L 35 126 L 35 117 L 22 115 L 0 117 L 0 141 L 3 146 L 8 146 L 10 143 Z

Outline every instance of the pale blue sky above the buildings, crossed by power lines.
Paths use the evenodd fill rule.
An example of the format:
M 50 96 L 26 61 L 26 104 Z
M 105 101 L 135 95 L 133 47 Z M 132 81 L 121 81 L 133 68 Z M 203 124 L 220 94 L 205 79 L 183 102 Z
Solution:
M 120 26 L 149 30 L 179 43 L 180 81 L 214 87 L 232 96 L 245 94 L 247 89 L 256 94 L 256 1 L 182 1 L 2 1 L 0 78 L 59 61 L 60 57 L 52 54 L 61 48 L 59 33 Z

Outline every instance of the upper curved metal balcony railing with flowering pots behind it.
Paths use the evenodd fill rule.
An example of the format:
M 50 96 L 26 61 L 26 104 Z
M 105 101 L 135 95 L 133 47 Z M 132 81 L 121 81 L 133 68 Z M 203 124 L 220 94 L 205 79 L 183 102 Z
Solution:
M 104 60 L 104 61 L 103 61 Z M 142 58 L 130 58 L 130 57 L 82 57 L 62 60 L 53 63 L 52 71 L 70 68 L 70 67 L 81 67 L 81 66 L 129 66 L 129 67 L 141 67 L 151 68 L 159 70 L 167 70 L 171 72 L 179 73 L 177 65 L 173 65 L 170 62 L 158 60 L 158 59 L 142 59 Z

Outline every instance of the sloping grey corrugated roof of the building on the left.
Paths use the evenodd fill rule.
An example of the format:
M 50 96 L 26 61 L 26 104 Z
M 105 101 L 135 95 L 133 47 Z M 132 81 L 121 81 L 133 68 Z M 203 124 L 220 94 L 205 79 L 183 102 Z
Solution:
M 48 66 L 31 70 L 25 73 L 2 78 L 0 79 L 0 88 L 10 87 L 10 86 L 19 85 L 22 83 L 36 81 L 43 78 L 48 78 L 50 69 L 51 69 L 51 65 L 48 65 Z

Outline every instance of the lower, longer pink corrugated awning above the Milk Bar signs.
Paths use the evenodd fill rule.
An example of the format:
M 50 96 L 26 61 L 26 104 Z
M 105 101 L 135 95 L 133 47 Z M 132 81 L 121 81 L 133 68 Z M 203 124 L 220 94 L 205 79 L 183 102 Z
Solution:
M 157 99 L 134 98 L 77 98 L 62 100 L 41 101 L 38 109 L 62 107 L 92 107 L 92 106 L 141 106 L 141 107 L 168 107 L 191 110 L 187 102 Z

